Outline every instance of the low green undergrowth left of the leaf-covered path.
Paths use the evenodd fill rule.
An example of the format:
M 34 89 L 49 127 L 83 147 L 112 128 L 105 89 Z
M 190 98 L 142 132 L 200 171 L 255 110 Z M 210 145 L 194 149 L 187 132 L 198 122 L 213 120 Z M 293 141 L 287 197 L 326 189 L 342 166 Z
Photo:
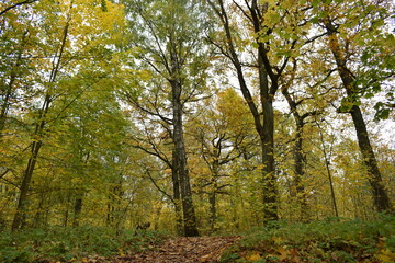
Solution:
M 104 227 L 25 229 L 0 232 L 0 262 L 87 262 L 92 256 L 126 255 L 154 249 L 165 239 L 154 231 Z

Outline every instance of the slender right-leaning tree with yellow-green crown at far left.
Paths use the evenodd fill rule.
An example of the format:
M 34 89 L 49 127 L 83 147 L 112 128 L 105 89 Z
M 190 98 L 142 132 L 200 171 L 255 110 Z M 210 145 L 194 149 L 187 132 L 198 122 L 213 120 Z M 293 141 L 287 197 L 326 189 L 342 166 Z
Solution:
M 83 93 L 84 89 L 89 88 L 92 82 L 100 81 L 108 72 L 103 68 L 101 72 L 97 70 L 97 75 L 91 75 L 89 81 L 82 81 L 84 84 L 82 89 L 79 89 L 81 87 L 77 84 L 78 81 L 72 82 L 70 79 L 76 76 L 76 79 L 79 79 L 83 76 L 83 73 L 78 75 L 76 69 L 83 72 L 83 62 L 80 60 L 83 61 L 84 56 L 88 58 L 84 61 L 91 62 L 91 67 L 94 68 L 94 64 L 98 61 L 90 61 L 90 56 L 100 57 L 109 54 L 106 49 L 108 43 L 105 43 L 106 35 L 114 27 L 122 25 L 122 18 L 121 21 L 112 20 L 111 23 L 104 23 L 104 15 L 101 15 L 101 13 L 108 12 L 106 19 L 113 19 L 116 13 L 120 14 L 120 9 L 110 2 L 108 2 L 106 10 L 103 10 L 101 5 L 91 7 L 89 1 L 70 1 L 61 4 L 37 2 L 34 10 L 36 11 L 34 23 L 43 28 L 37 33 L 41 39 L 35 43 L 36 46 L 31 54 L 34 58 L 37 58 L 32 61 L 32 65 L 40 69 L 37 75 L 34 76 L 34 87 L 36 89 L 36 102 L 34 104 L 41 104 L 41 106 L 32 108 L 30 112 L 30 121 L 34 126 L 34 130 L 31 134 L 30 156 L 22 175 L 16 213 L 12 224 L 13 230 L 24 225 L 30 184 L 49 127 Z M 82 14 L 92 10 L 95 15 L 91 16 L 92 19 L 88 20 L 84 25 L 77 26 L 78 21 L 87 19 Z M 58 15 L 61 20 L 58 20 Z M 54 21 L 57 21 L 56 26 Z M 99 31 L 100 37 L 92 41 L 91 37 Z M 116 39 L 115 34 L 114 39 Z M 95 54 L 92 54 L 92 52 L 95 52 Z M 47 59 L 48 54 L 49 59 Z M 83 77 L 87 78 L 87 76 Z M 76 90 L 70 90 L 71 87 L 76 88 Z M 74 94 L 75 96 L 70 98 L 66 94 Z

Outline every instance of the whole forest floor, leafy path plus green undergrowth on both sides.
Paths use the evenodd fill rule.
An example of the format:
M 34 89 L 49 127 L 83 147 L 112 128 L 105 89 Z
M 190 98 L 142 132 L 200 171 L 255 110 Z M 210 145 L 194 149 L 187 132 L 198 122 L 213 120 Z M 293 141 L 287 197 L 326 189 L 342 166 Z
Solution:
M 395 262 L 395 217 L 279 221 L 230 237 L 49 227 L 0 231 L 4 263 Z

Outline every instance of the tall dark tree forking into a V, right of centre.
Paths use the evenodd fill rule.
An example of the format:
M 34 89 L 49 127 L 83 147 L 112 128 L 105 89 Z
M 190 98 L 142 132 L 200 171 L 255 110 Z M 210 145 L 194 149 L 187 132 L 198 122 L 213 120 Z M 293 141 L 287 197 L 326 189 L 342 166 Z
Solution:
M 273 102 L 284 83 L 282 78 L 289 70 L 290 58 L 297 55 L 302 44 L 298 37 L 303 35 L 305 9 L 293 1 L 208 2 L 222 27 L 219 37 L 212 37 L 212 42 L 232 61 L 260 138 L 263 220 L 276 220 Z M 238 26 L 239 24 L 242 26 Z M 258 75 L 256 81 L 248 78 L 251 71 Z M 253 96 L 255 87 L 259 91 L 258 98 Z

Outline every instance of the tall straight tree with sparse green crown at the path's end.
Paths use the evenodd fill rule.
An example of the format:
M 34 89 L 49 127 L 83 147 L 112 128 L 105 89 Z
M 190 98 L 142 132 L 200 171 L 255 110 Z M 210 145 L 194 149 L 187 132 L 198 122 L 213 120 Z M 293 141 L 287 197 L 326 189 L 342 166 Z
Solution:
M 206 30 L 204 3 L 196 0 L 124 1 L 133 18 L 140 70 L 148 70 L 149 81 L 137 83 L 144 91 L 129 95 L 137 108 L 159 118 L 172 140 L 171 159 L 174 201 L 180 201 L 185 236 L 198 236 L 184 142 L 184 112 L 188 103 L 202 98 L 206 87 Z M 162 93 L 158 98 L 150 93 Z M 155 93 L 157 94 L 157 93 Z M 166 99 L 166 100 L 163 100 Z M 145 102 L 144 102 L 145 101 Z M 171 127 L 170 129 L 168 127 Z

